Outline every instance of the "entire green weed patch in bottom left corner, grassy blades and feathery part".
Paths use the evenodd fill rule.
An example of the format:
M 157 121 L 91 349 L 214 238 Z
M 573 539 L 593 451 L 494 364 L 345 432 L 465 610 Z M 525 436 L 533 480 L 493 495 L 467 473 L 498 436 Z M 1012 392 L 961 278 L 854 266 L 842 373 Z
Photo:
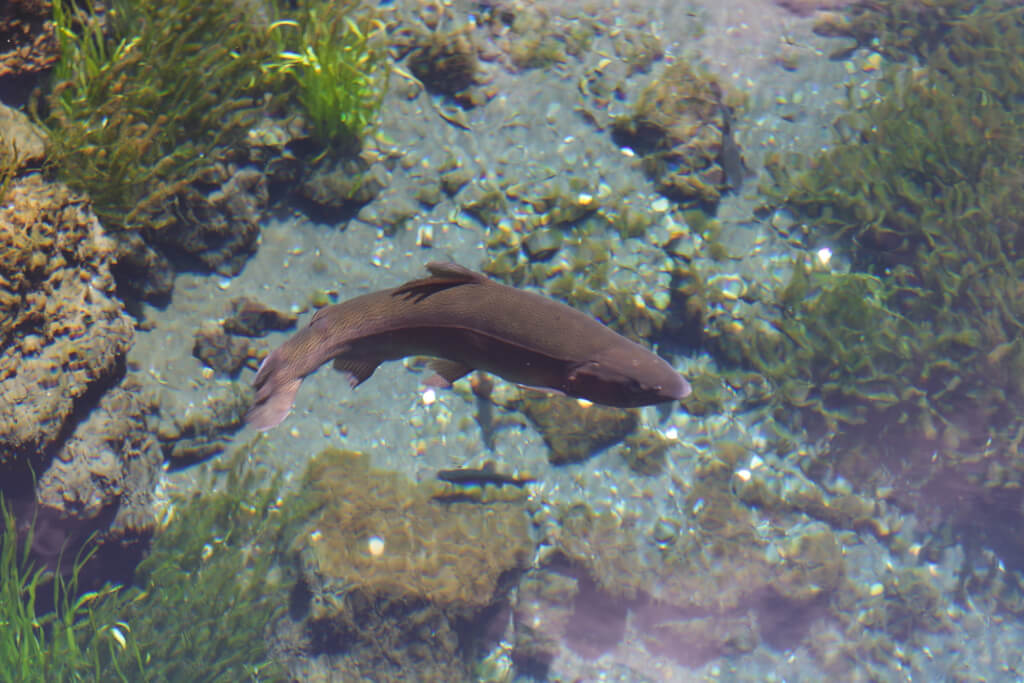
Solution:
M 311 510 L 280 497 L 280 477 L 238 451 L 202 476 L 203 494 L 164 509 L 135 586 L 82 593 L 76 558 L 68 578 L 29 563 L 13 517 L 0 537 L 0 680 L 282 680 L 269 630 L 294 584 L 281 566 L 296 524 Z M 20 548 L 20 549 L 19 549 Z M 291 580 L 291 581 L 288 581 Z M 41 609 L 42 591 L 55 608 Z

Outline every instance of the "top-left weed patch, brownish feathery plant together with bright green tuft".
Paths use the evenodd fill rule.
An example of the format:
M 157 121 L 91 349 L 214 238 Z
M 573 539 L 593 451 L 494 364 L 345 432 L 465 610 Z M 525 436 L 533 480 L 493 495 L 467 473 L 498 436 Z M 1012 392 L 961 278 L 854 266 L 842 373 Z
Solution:
M 258 117 L 298 106 L 328 152 L 357 147 L 387 84 L 372 13 L 303 2 L 239 20 L 232 0 L 54 3 L 60 59 L 36 109 L 49 163 L 103 225 L 160 230 Z M 83 8 L 84 7 L 84 8 Z

